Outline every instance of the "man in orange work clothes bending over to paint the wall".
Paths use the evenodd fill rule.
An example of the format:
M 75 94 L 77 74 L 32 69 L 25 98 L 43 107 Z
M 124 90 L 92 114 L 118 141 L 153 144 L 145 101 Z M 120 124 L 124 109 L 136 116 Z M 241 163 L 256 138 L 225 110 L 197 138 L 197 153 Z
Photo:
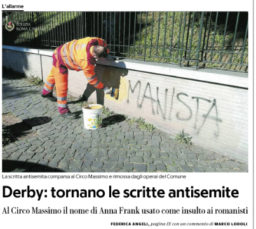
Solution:
M 89 84 L 103 90 L 105 94 L 111 94 L 111 90 L 98 80 L 94 72 L 97 59 L 114 60 L 109 55 L 105 40 L 98 37 L 72 40 L 57 47 L 52 58 L 53 66 L 50 75 L 46 78 L 41 96 L 54 98 L 53 87 L 56 85 L 58 111 L 62 117 L 76 118 L 76 114 L 72 114 L 67 106 L 68 69 L 83 70 Z

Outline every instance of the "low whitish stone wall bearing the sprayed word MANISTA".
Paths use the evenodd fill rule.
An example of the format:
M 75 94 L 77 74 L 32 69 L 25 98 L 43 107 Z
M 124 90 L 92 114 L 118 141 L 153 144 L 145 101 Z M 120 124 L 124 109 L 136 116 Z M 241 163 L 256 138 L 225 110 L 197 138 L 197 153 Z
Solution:
M 13 50 L 11 50 L 13 49 Z M 46 79 L 52 51 L 4 47 L 3 66 Z M 248 161 L 248 73 L 191 70 L 142 61 L 100 61 L 95 73 L 119 89 L 118 100 L 69 71 L 69 94 L 105 104 L 116 113 L 142 117 L 174 136 L 182 129 L 194 144 Z

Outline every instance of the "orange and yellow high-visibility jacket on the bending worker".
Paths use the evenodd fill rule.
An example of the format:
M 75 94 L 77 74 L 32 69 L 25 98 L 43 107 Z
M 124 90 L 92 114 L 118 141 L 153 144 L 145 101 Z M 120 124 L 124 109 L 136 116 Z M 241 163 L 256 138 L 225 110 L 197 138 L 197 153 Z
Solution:
M 61 47 L 62 60 L 69 70 L 84 71 L 88 83 L 97 89 L 104 89 L 105 85 L 95 75 L 95 59 L 93 58 L 93 46 L 107 47 L 105 40 L 98 37 L 86 37 L 72 40 Z M 107 48 L 107 53 L 109 49 Z

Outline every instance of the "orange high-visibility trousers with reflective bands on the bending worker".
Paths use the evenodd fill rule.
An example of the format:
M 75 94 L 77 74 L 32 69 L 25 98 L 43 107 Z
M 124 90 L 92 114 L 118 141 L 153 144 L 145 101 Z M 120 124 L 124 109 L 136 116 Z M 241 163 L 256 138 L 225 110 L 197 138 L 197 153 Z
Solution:
M 53 53 L 53 66 L 51 72 L 46 78 L 43 94 L 53 92 L 56 85 L 58 111 L 61 114 L 67 113 L 67 86 L 68 86 L 68 70 L 67 67 L 59 61 L 58 49 Z

